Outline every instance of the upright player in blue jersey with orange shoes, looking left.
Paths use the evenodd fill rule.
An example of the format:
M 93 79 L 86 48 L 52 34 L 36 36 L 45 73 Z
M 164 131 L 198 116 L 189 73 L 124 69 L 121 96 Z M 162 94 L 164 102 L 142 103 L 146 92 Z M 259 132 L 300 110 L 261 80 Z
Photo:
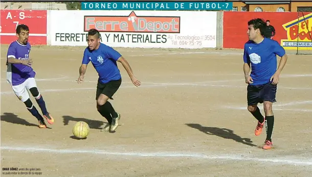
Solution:
M 277 41 L 263 37 L 265 26 L 266 23 L 260 18 L 248 21 L 249 41 L 244 45 L 243 71 L 248 84 L 248 110 L 258 120 L 255 135 L 261 134 L 265 123 L 266 139 L 262 148 L 271 149 L 274 127 L 272 105 L 276 102 L 279 75 L 286 64 L 287 55 Z M 281 57 L 278 68 L 276 55 Z M 263 103 L 264 117 L 260 113 L 258 103 Z

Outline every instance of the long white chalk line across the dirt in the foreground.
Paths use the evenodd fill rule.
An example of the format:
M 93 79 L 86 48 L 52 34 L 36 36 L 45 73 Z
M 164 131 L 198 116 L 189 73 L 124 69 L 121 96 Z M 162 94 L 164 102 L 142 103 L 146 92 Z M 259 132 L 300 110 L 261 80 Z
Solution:
M 312 159 L 287 159 L 284 157 L 278 158 L 257 158 L 257 157 L 243 157 L 240 155 L 205 155 L 205 154 L 187 154 L 184 152 L 157 152 L 157 153 L 121 153 L 121 152 L 111 152 L 105 150 L 77 150 L 77 149 L 54 149 L 54 148 L 35 148 L 35 147 L 10 147 L 2 146 L 2 150 L 14 150 L 14 151 L 23 151 L 26 153 L 31 152 L 45 152 L 45 153 L 54 153 L 54 154 L 93 154 L 93 155 L 113 155 L 113 156 L 132 156 L 132 157 L 176 157 L 176 158 L 195 158 L 203 160 L 229 160 L 229 161 L 252 161 L 252 162 L 264 162 L 264 163 L 273 163 L 273 164 L 288 164 L 288 165 L 303 165 L 309 166 L 312 165 Z

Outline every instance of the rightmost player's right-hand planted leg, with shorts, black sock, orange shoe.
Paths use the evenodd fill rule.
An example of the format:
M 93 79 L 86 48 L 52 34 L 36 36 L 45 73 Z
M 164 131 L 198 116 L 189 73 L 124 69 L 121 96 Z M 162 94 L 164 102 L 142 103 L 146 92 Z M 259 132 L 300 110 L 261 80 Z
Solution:
M 277 85 L 268 83 L 263 87 L 263 109 L 265 112 L 266 138 L 263 149 L 271 149 L 273 147 L 272 134 L 274 128 L 273 103 L 276 102 Z

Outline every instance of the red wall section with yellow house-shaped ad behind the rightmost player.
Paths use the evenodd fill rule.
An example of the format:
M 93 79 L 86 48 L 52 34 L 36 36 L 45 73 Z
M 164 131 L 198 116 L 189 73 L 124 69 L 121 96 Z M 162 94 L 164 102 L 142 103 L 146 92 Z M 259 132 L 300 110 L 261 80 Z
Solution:
M 285 49 L 312 49 L 312 13 L 304 12 L 224 12 L 223 47 L 243 48 L 248 41 L 248 21 L 253 18 L 270 20 L 275 28 L 274 40 Z M 297 36 L 299 31 L 299 43 Z M 310 35 L 309 35 L 309 32 Z

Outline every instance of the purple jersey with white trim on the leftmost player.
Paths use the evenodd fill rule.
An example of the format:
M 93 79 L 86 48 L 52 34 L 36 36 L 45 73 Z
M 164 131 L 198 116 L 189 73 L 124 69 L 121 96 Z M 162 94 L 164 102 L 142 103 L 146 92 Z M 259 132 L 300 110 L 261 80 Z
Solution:
M 18 60 L 28 60 L 30 52 L 30 44 L 23 45 L 14 41 L 8 48 L 8 58 L 15 58 Z M 34 78 L 36 73 L 32 67 L 23 64 L 12 64 L 7 63 L 7 81 L 12 85 L 16 86 L 24 83 L 28 78 Z

